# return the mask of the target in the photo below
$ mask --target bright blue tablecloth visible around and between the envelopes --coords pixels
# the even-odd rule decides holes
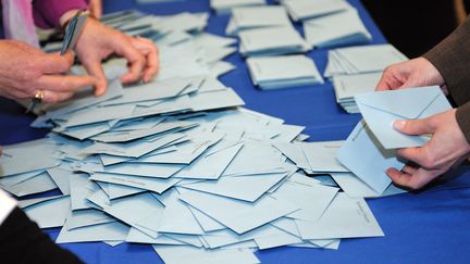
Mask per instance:
[[[359,0],[355,5],[373,35],[373,43],[385,43],[370,15]],[[104,0],[104,11],[138,9],[153,14],[207,12],[209,0],[185,0],[137,5],[132,0]],[[211,12],[207,32],[224,35],[227,15]],[[326,50],[314,50],[312,56],[323,73]],[[311,141],[345,139],[360,120],[346,114],[335,102],[332,85],[299,87],[285,90],[261,91],[248,76],[243,58],[236,53],[227,61],[237,68],[222,77],[245,100],[246,106],[282,117],[287,124],[306,126]],[[9,100],[0,100],[0,143],[21,142],[46,135],[47,130],[29,128],[34,116]],[[448,173],[421,192],[369,200],[372,212],[385,237],[345,239],[339,250],[277,248],[257,252],[262,263],[469,263],[470,261],[470,167]],[[55,238],[59,228],[46,230]],[[101,242],[62,244],[86,263],[162,263],[148,244],[123,243],[111,248]],[[190,261],[188,260],[188,263]]]

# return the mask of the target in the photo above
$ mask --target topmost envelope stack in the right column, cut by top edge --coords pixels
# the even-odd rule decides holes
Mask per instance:
[[[344,0],[282,0],[294,21],[305,21],[354,9]]]

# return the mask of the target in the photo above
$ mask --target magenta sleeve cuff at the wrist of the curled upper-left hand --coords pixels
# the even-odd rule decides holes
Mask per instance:
[[[67,11],[87,9],[87,3],[84,0],[42,0],[33,2],[36,22],[40,22],[41,26],[61,28],[60,17]],[[40,16],[39,16],[40,15]]]

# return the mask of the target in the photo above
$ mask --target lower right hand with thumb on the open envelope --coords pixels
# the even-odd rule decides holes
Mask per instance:
[[[406,165],[401,171],[388,168],[386,174],[396,185],[420,189],[470,155],[470,144],[456,121],[456,111],[453,109],[428,118],[394,123],[396,130],[407,135],[432,135],[422,147],[397,150],[398,156],[418,166]]]

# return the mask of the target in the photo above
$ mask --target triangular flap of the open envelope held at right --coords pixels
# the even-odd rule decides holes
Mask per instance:
[[[417,118],[440,95],[438,86],[403,90],[373,91],[356,96],[358,104],[364,104],[407,120]]]

